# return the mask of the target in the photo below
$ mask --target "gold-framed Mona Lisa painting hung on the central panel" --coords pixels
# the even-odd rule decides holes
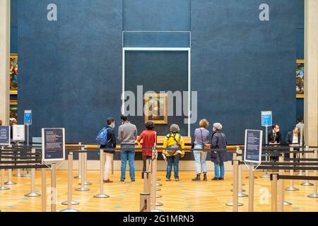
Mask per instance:
[[[167,94],[146,93],[144,100],[145,124],[153,121],[157,125],[167,124]]]

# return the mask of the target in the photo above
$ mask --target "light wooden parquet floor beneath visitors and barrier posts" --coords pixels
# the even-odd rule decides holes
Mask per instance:
[[[13,172],[14,174],[14,172]],[[36,172],[36,191],[41,191],[40,171]],[[77,172],[74,171],[76,175]],[[143,180],[141,172],[136,172],[136,183],[131,184],[130,179],[126,179],[124,184],[119,184],[120,172],[115,171],[114,183],[104,184],[105,194],[110,198],[93,198],[98,194],[98,171],[88,171],[88,181],[93,184],[88,186],[90,191],[73,191],[73,200],[80,204],[73,206],[80,211],[87,212],[125,212],[139,210],[139,194],[143,189]],[[189,211],[209,211],[209,212],[230,212],[232,208],[225,206],[225,203],[232,201],[232,172],[226,172],[225,181],[212,182],[213,172],[208,174],[208,182],[192,182],[194,172],[179,172],[180,181],[165,182],[165,172],[158,172],[161,179],[161,191],[158,194],[162,198],[157,201],[163,203],[158,209],[165,212],[189,212]],[[243,186],[248,194],[248,179],[245,179],[248,172],[244,172]],[[256,172],[259,177],[263,172]],[[129,172],[126,172],[126,178],[129,178]],[[28,198],[25,194],[30,192],[30,178],[13,177],[16,185],[9,186],[11,190],[0,191],[0,210],[3,212],[30,212],[41,211],[41,197]],[[78,187],[78,179],[73,180],[73,188]],[[302,181],[295,181],[295,186],[300,191],[285,191],[285,201],[293,203],[293,206],[285,206],[285,212],[305,212],[318,211],[318,198],[308,198],[312,194],[312,186],[300,186]],[[50,210],[50,172],[47,171],[47,211]],[[289,181],[285,182],[285,187],[289,186]],[[271,211],[271,182],[269,179],[255,179],[254,187],[254,210],[258,212]],[[62,210],[66,206],[61,205],[62,201],[67,199],[67,172],[64,170],[57,171],[57,210]],[[248,210],[248,198],[239,198],[244,206],[240,211]]]

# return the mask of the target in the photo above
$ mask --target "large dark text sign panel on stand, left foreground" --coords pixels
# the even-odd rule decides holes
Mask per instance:
[[[42,161],[65,160],[65,129],[42,129]]]

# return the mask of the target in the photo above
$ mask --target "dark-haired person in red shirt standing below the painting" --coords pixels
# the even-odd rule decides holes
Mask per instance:
[[[138,145],[142,148],[153,148],[153,146],[157,143],[157,133],[153,130],[155,128],[155,124],[153,121],[148,121],[146,123],[146,130],[144,130],[139,138],[137,139]],[[141,145],[140,142],[143,141]],[[143,150],[143,172],[146,172],[146,162],[148,159],[151,159],[153,155],[153,150],[145,149]]]

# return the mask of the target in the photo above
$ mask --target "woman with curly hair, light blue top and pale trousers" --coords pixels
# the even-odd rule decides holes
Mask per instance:
[[[210,132],[208,131],[208,120],[202,119],[199,122],[199,128],[194,131],[194,143],[193,147],[193,155],[194,160],[196,162],[196,177],[192,179],[194,182],[199,182],[201,176],[201,168],[204,175],[204,181],[207,180],[206,177],[206,155],[208,154],[208,150],[205,150],[205,147],[210,148],[208,145],[208,141],[210,139]]]

